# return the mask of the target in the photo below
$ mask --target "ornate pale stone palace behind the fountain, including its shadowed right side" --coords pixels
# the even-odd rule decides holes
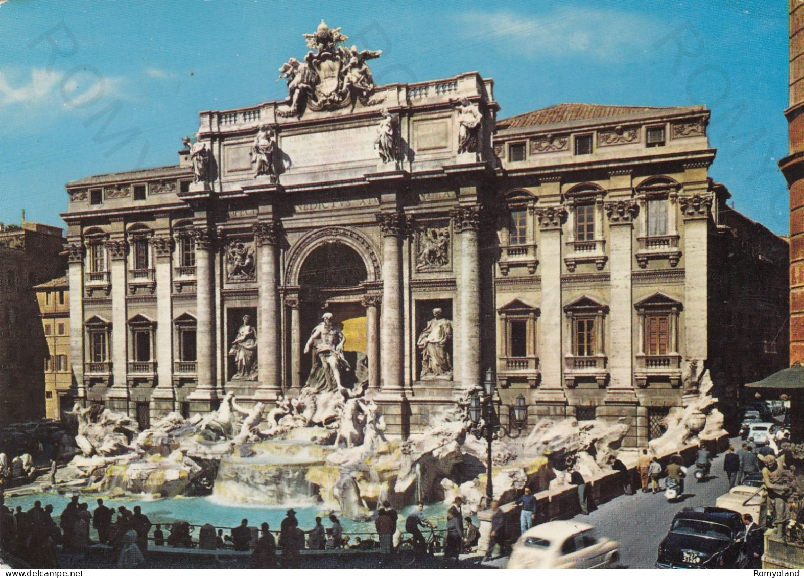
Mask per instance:
[[[68,183],[77,399],[142,426],[229,391],[270,409],[307,383],[325,313],[340,379],[393,435],[492,368],[531,424],[621,418],[642,445],[697,387],[691,366],[727,402],[749,346],[786,367],[767,346],[783,294],[728,318],[735,276],[785,275],[787,248],[708,178],[707,109],[498,120],[492,80],[375,86],[379,52],[339,34],[322,23],[281,69],[287,100],[200,113],[178,165]]]

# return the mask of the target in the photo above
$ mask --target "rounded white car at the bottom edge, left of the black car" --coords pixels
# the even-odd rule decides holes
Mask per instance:
[[[609,568],[619,559],[619,547],[598,538],[589,524],[556,520],[519,536],[506,568]]]

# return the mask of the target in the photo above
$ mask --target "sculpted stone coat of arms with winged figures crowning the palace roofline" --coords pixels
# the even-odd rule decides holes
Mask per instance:
[[[288,83],[287,106],[277,111],[283,117],[301,117],[305,110],[335,110],[346,106],[376,105],[372,100],[374,77],[366,64],[382,54],[379,50],[359,51],[343,46],[349,37],[340,27],[330,28],[322,20],[313,34],[304,35],[307,52],[303,62],[291,58],[279,69]]]

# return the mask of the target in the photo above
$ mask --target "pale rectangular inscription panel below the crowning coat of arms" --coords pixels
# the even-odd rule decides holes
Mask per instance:
[[[352,129],[332,130],[328,133],[293,134],[283,136],[281,151],[285,168],[334,165],[339,162],[371,161],[379,159],[374,149],[377,127],[358,126]]]

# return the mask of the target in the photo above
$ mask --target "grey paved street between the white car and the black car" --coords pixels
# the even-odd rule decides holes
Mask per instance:
[[[695,478],[692,478],[695,468],[690,468],[684,488],[687,497],[681,502],[667,502],[663,492],[655,495],[638,492],[633,496],[615,498],[601,504],[588,516],[581,514],[573,519],[591,523],[599,535],[620,542],[622,566],[653,568],[658,545],[670,528],[673,516],[686,506],[714,506],[715,500],[728,490],[728,479],[723,472],[723,455],[712,461],[708,482],[695,482]]]

